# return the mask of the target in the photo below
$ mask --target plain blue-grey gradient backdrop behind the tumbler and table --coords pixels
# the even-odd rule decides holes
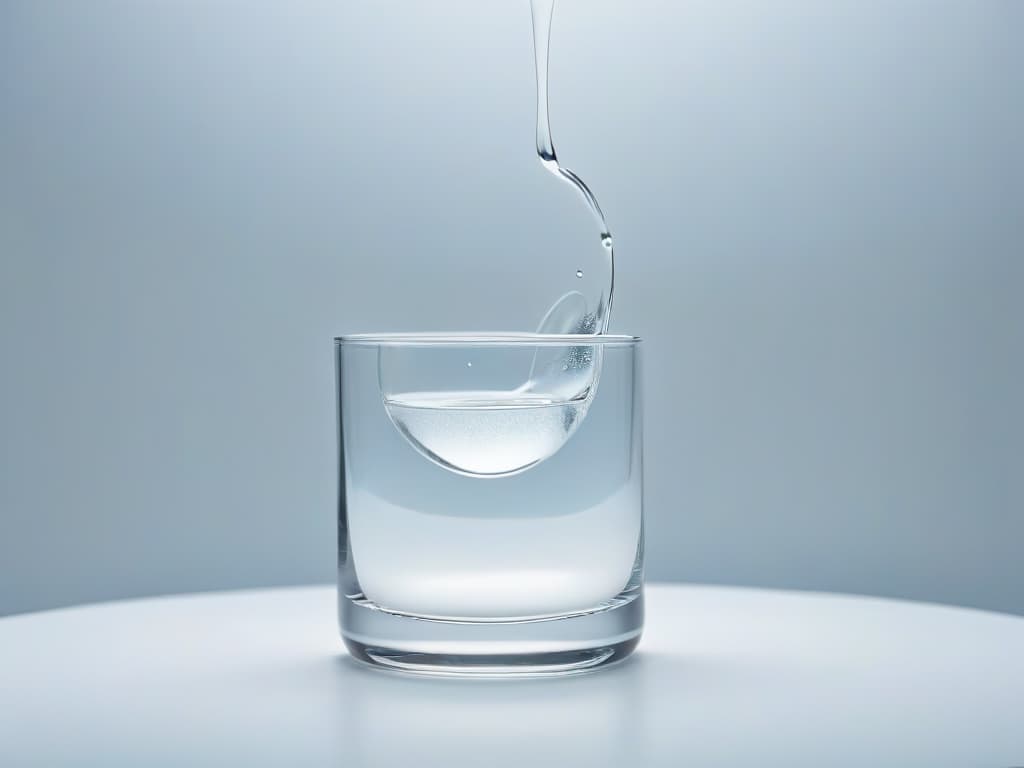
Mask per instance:
[[[648,574],[1024,612],[1024,3],[585,2]],[[574,270],[526,0],[0,0],[0,612],[328,581],[342,332]]]

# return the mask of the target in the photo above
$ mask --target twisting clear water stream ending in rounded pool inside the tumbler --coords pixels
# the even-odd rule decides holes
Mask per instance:
[[[564,293],[545,313],[542,334],[604,333],[614,287],[611,234],[597,198],[561,166],[551,136],[548,59],[554,0],[531,0],[537,74],[537,154],[544,168],[582,198],[598,224],[606,270],[590,275],[596,290]],[[573,269],[575,281],[584,279]],[[590,295],[588,295],[590,294]],[[472,365],[471,362],[468,365]],[[393,392],[382,371],[385,407],[395,427],[423,456],[455,472],[496,477],[524,471],[553,456],[587,415],[600,377],[594,347],[538,347],[523,384],[492,391]]]

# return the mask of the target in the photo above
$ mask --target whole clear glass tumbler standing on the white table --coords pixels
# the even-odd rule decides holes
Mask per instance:
[[[639,339],[335,341],[352,655],[456,675],[628,655],[643,625]]]

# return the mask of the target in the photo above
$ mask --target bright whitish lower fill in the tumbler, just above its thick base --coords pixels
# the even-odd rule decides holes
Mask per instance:
[[[629,487],[559,514],[430,514],[368,490],[351,506],[359,597],[384,610],[522,621],[599,610],[639,587],[639,504]]]

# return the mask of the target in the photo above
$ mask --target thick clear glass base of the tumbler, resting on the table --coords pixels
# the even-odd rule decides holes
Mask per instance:
[[[339,596],[349,653],[378,669],[458,677],[538,677],[602,669],[640,641],[643,595],[565,616],[513,622],[423,618]]]

